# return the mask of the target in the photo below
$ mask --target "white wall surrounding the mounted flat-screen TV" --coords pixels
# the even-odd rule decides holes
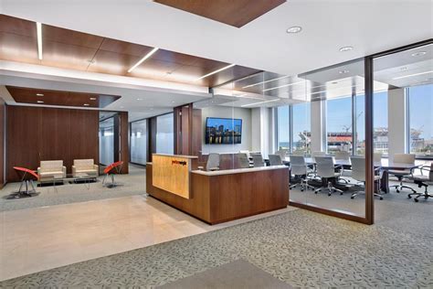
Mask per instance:
[[[242,120],[241,144],[205,144],[206,118],[238,118]],[[251,150],[251,109],[232,108],[228,106],[211,106],[202,109],[202,154],[209,153],[238,153],[239,150]],[[256,129],[256,128],[254,128]],[[259,129],[259,128],[258,128]]]

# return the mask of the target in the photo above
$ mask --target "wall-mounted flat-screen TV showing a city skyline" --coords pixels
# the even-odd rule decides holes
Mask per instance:
[[[241,119],[206,118],[206,144],[240,144],[241,141]]]

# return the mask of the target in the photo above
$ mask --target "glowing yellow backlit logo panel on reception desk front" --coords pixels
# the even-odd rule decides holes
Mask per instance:
[[[189,172],[191,160],[179,155],[153,155],[153,186],[174,195],[190,198]]]

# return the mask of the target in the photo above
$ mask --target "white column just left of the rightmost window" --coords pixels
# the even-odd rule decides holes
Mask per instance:
[[[375,108],[380,109],[380,108]],[[388,155],[407,152],[407,103],[405,89],[388,91]]]

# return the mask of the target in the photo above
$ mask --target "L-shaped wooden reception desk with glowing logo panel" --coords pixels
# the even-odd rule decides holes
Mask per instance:
[[[170,160],[168,155],[164,155]],[[289,168],[287,166],[264,166],[254,168],[227,169],[206,172],[195,169],[195,158],[171,155],[189,160],[189,194],[185,191],[185,166],[168,162],[170,168],[160,159],[146,166],[147,193],[153,198],[180,209],[195,218],[210,224],[240,219],[289,205]],[[163,162],[166,162],[164,160]],[[158,167],[164,166],[165,168]],[[155,173],[158,172],[158,173]],[[182,177],[169,177],[174,174]],[[166,181],[155,179],[163,177]],[[178,182],[178,183],[177,183]]]

